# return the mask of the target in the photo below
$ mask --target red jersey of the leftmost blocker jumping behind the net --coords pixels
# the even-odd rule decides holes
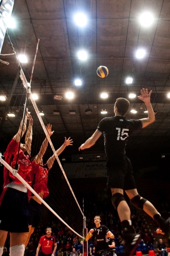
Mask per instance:
[[[8,144],[6,151],[4,152],[5,161],[14,169],[17,161],[19,142],[17,143],[14,138]],[[24,152],[19,149],[18,154],[18,174],[27,182],[31,183],[31,161],[29,155],[25,155]],[[16,177],[4,166],[4,186],[14,181],[17,184],[21,184]]]

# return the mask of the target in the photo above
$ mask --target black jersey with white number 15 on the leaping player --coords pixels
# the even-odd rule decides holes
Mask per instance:
[[[105,154],[108,159],[125,154],[128,136],[142,128],[141,120],[126,120],[125,117],[105,117],[98,124],[98,131],[104,133]]]

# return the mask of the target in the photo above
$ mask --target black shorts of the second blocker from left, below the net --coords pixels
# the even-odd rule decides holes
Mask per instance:
[[[37,203],[34,199],[29,201],[29,225],[36,227],[41,219],[42,207],[40,203]]]

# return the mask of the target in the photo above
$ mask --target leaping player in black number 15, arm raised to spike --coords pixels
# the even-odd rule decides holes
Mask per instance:
[[[148,93],[148,89],[142,89],[141,96],[138,96],[138,99],[145,102],[148,117],[139,120],[126,120],[125,115],[130,107],[130,102],[125,98],[118,98],[114,106],[115,117],[105,117],[102,119],[94,134],[79,147],[79,151],[92,147],[101,134],[104,133],[105,153],[108,158],[106,165],[109,176],[108,188],[111,188],[112,204],[118,211],[123,227],[123,254],[125,256],[133,255],[141,237],[139,234],[133,233],[130,208],[124,199],[123,190],[127,193],[131,203],[150,215],[161,227],[161,230],[167,234],[170,231],[170,219],[165,221],[152,203],[138,194],[132,175],[131,162],[125,154],[125,147],[129,135],[133,131],[145,128],[155,121],[155,115],[150,102],[151,94],[152,90]]]

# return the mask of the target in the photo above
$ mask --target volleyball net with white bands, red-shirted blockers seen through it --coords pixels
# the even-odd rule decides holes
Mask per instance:
[[[83,212],[58,158],[65,149],[65,137],[63,144],[54,148],[52,141],[57,136],[48,126],[51,118],[48,120],[40,115],[40,106],[36,105],[20,65],[14,83],[8,89],[11,90],[8,90],[6,101],[0,106],[0,160],[4,171],[9,170],[8,180],[24,184],[30,191],[29,196],[35,195],[61,222],[83,238]],[[23,156],[25,147],[31,155],[26,160]],[[28,158],[34,156],[31,164]],[[37,166],[43,165],[41,158],[47,165],[37,171]]]

